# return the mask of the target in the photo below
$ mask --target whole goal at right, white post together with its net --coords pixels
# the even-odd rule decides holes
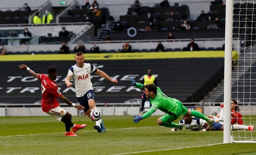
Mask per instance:
[[[256,127],[255,23],[256,0],[226,0],[224,143],[256,143],[256,131],[247,129]],[[245,129],[230,129],[231,99],[238,102]]]

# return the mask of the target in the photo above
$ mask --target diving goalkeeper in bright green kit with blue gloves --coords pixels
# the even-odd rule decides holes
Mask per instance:
[[[158,118],[157,124],[160,126],[165,126],[168,128],[178,128],[182,130],[183,124],[175,124],[172,123],[174,120],[180,117],[180,115],[190,115],[195,116],[197,118],[202,118],[206,120],[208,126],[211,127],[213,123],[212,118],[207,118],[200,112],[196,110],[188,110],[182,103],[175,99],[166,96],[159,87],[155,84],[140,84],[136,83],[133,78],[131,78],[132,86],[139,88],[141,90],[145,90],[146,98],[149,98],[152,106],[149,108],[148,112],[144,113],[142,116],[134,115],[133,122],[138,123],[140,120],[145,119],[151,116],[157,109],[165,112],[166,115]]]

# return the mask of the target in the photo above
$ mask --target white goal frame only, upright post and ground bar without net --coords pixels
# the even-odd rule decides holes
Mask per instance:
[[[244,1],[246,2],[246,0]],[[254,2],[254,0],[252,1]],[[256,1],[255,1],[256,3]],[[225,58],[224,58],[224,137],[223,143],[256,143],[256,141],[234,141],[230,131],[230,102],[232,92],[232,41],[234,0],[226,0]],[[256,4],[255,4],[256,5]],[[253,131],[254,132],[254,131]]]

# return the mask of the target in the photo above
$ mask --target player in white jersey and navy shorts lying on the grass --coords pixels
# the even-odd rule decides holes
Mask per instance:
[[[196,118],[188,115],[184,115],[183,119],[180,120],[179,124],[184,124],[186,129],[191,129],[193,131],[210,131],[207,122],[201,118]],[[234,124],[230,126],[231,130],[239,130],[244,129],[240,128],[241,125]],[[212,124],[212,131],[223,131],[224,126],[223,124],[213,122]],[[170,131],[177,131],[178,128],[172,128]]]

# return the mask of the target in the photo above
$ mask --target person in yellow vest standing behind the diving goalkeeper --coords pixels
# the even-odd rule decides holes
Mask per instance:
[[[154,75],[152,75],[151,69],[148,69],[148,74],[144,75],[144,77],[142,79],[142,83],[143,83],[143,85],[152,83],[152,84],[156,84],[156,86],[157,86],[156,77]],[[147,99],[146,94],[145,94],[145,90],[143,90],[143,93],[141,95],[141,99],[142,99],[142,102],[141,102],[141,108],[140,108],[139,116],[144,114],[144,104],[145,104],[145,101]],[[149,103],[150,103],[150,101],[149,101]],[[151,107],[151,103],[150,103],[150,107]]]

